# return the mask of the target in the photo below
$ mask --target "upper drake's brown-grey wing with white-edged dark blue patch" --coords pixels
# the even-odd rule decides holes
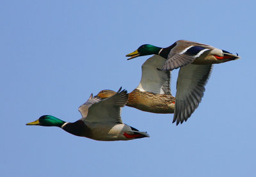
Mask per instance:
[[[168,54],[163,70],[174,70],[192,63],[196,58],[207,56],[214,47],[202,43],[179,40]]]

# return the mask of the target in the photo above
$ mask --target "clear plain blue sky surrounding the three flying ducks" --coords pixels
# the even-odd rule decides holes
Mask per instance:
[[[1,1],[1,176],[254,176],[255,1]],[[214,65],[186,123],[124,107],[124,123],[150,138],[100,142],[57,127],[26,126],[44,114],[73,122],[90,94],[131,92],[150,43],[191,40],[238,53]],[[172,93],[178,70],[172,72]]]

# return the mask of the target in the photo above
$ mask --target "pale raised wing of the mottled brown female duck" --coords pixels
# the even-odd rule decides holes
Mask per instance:
[[[161,70],[165,62],[166,59],[158,55],[148,58],[141,66],[142,75],[137,89],[170,95],[171,72]]]

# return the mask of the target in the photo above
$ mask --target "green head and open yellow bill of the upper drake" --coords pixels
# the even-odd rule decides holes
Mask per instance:
[[[152,54],[158,54],[161,49],[161,47],[156,47],[150,44],[144,44],[141,45],[137,50],[131,52],[130,54],[127,54],[126,56],[131,56],[131,58],[128,59],[136,58],[138,56],[148,56]]]

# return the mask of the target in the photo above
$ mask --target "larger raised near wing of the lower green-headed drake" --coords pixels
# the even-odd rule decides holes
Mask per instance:
[[[85,120],[89,122],[122,123],[121,107],[124,107],[127,103],[128,94],[125,89],[120,91],[121,89],[115,95],[91,105]]]

